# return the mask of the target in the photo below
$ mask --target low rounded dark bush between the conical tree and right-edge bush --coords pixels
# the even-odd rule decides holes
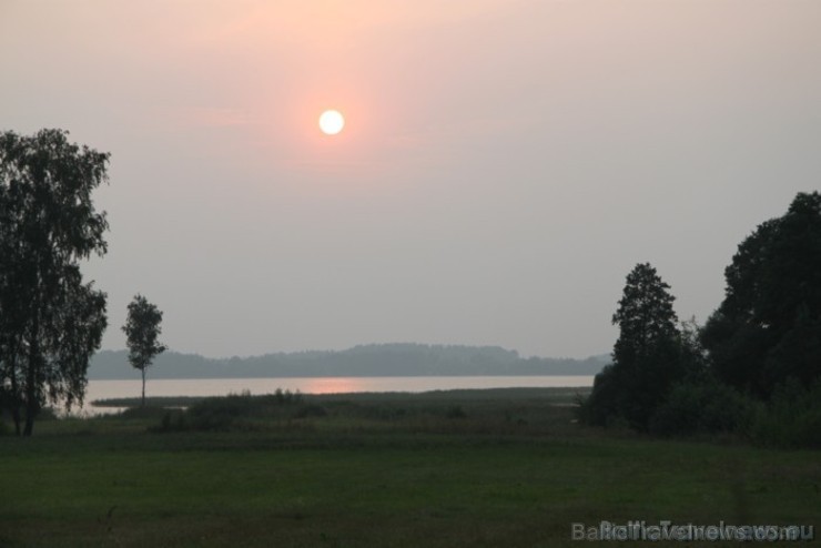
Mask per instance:
[[[661,436],[749,430],[759,404],[712,377],[673,385],[650,418],[649,430]]]

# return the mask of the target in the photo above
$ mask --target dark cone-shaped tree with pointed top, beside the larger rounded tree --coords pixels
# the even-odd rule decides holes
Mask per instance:
[[[596,376],[585,404],[589,423],[622,417],[643,430],[672,384],[685,376],[691,353],[685,352],[689,341],[677,327],[669,290],[649,263],[628,274],[612,316],[619,326],[612,364]]]

